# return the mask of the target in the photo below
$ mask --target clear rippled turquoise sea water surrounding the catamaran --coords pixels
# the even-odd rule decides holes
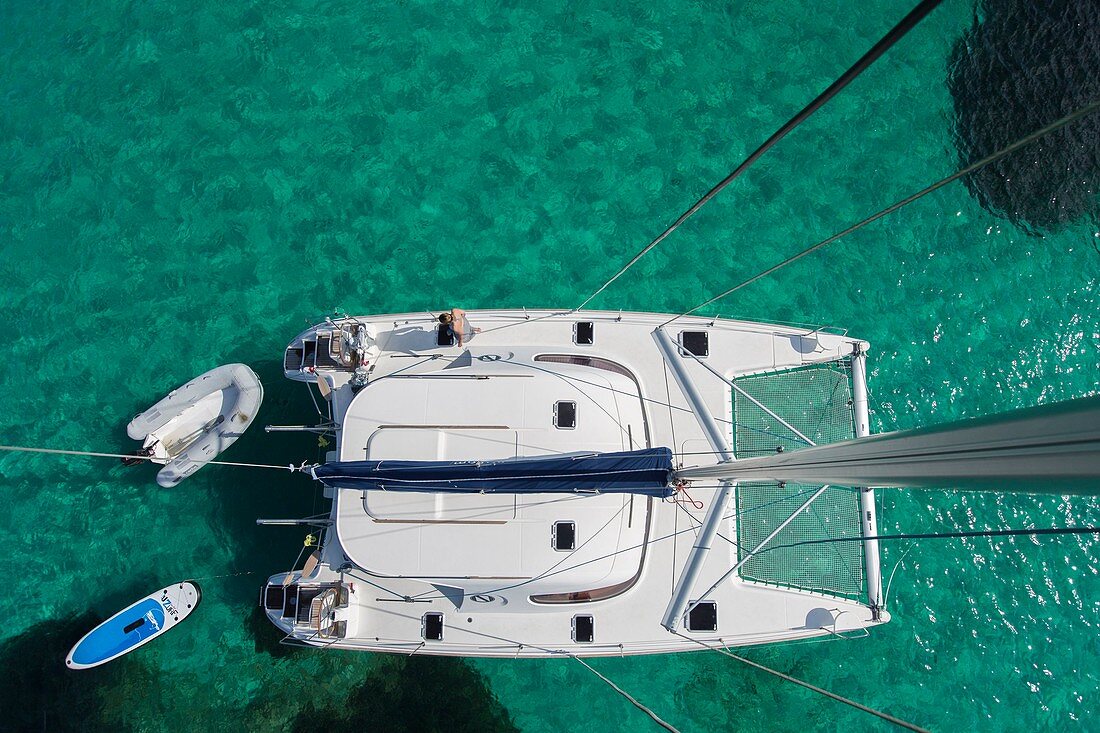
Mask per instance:
[[[0,8],[4,444],[129,450],[130,416],[216,364],[309,420],[284,344],[356,313],[580,303],[908,3],[31,3]],[[679,310],[946,175],[949,0],[593,304]],[[721,304],[872,343],[873,428],[1087,394],[1100,237],[1045,237],[955,184]],[[300,436],[228,460],[298,462]],[[278,472],[177,490],[113,461],[3,456],[0,721],[32,730],[647,730],[575,663],[294,652],[253,615],[322,511]],[[890,492],[882,525],[1085,525],[1096,500]],[[746,655],[938,730],[1096,727],[1100,545],[925,543],[869,638]],[[198,578],[186,631],[67,674],[91,623]],[[706,653],[594,665],[685,731],[881,726]],[[356,718],[358,715],[358,718]],[[510,722],[509,722],[510,721]]]

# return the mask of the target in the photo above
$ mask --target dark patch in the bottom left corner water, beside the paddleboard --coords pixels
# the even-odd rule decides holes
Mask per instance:
[[[102,621],[90,612],[37,623],[0,644],[0,729],[4,731],[120,730],[131,696],[155,688],[133,657],[102,667],[65,668],[65,656]]]

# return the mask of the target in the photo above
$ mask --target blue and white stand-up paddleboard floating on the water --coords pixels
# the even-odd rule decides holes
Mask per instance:
[[[88,669],[133,652],[189,616],[201,598],[199,587],[191,581],[167,586],[85,634],[65,664],[69,669]]]

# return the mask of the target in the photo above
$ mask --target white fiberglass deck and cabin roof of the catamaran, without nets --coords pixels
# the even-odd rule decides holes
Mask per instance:
[[[376,348],[370,379],[358,391],[346,366],[320,359],[304,363],[308,357],[295,363],[310,352],[310,341],[324,343],[333,326],[311,329],[290,344],[287,376],[323,379],[331,387],[340,460],[495,460],[667,446],[678,463],[715,462],[654,343],[653,330],[667,317],[473,311],[469,319],[483,332],[458,348],[437,344],[437,324],[427,316],[359,318],[374,330]],[[576,343],[579,321],[593,324],[591,344]],[[667,331],[676,339],[683,331],[705,332],[702,360],[727,379],[842,359],[859,343],[726,320],[681,319]],[[730,387],[684,359],[733,444]],[[561,403],[573,406],[572,425],[556,424]],[[469,656],[689,650],[702,648],[698,642],[792,639],[889,617],[882,613],[873,621],[859,599],[763,586],[734,573],[706,595],[717,605],[717,630],[669,633],[660,620],[715,493],[713,485],[689,492],[702,508],[620,494],[338,489],[322,561],[311,577],[296,573],[292,580],[301,588],[349,587],[346,608],[337,612],[349,621],[346,634],[322,641],[316,627],[295,624],[278,609],[268,608],[268,614],[309,643]],[[722,538],[696,583],[700,593],[738,560],[736,506],[729,505]],[[574,549],[553,546],[556,523],[573,525]],[[426,631],[426,613],[443,614],[442,638]],[[574,641],[576,615],[592,616],[592,642]]]

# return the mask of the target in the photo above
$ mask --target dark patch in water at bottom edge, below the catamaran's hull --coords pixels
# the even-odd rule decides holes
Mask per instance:
[[[485,678],[461,659],[385,656],[339,707],[307,707],[293,731],[518,731]]]

